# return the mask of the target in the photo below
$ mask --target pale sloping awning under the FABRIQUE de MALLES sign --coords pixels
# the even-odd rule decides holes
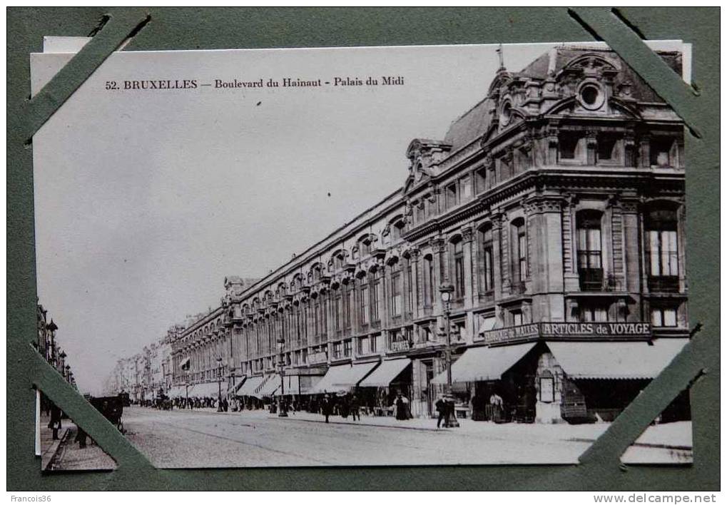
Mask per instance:
[[[536,342],[507,345],[503,347],[472,347],[452,365],[452,382],[497,381],[502,374],[518,363]],[[432,384],[446,384],[447,373],[443,371]]]

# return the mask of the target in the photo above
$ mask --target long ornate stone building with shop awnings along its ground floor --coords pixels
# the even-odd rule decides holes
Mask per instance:
[[[688,339],[683,122],[606,49],[501,65],[483,94],[411,141],[401,190],[175,326],[169,392],[401,392],[431,416],[449,355],[475,418],[494,397],[518,421],[617,415]]]

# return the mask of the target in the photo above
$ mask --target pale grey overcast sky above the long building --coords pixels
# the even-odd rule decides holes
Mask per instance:
[[[505,46],[521,70],[548,45]],[[481,100],[495,46],[113,54],[33,140],[41,304],[82,392],[401,187]],[[68,56],[33,62],[36,87]],[[107,91],[106,81],[402,76],[403,86]]]

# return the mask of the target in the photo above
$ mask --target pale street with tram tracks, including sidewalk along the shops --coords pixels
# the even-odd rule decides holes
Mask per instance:
[[[127,408],[126,435],[158,467],[422,464],[573,464],[607,424],[491,424],[462,420],[436,429],[433,419],[360,423],[295,413],[217,413]],[[667,427],[667,425],[663,425]],[[688,427],[688,428],[687,428]],[[634,461],[691,461],[691,426],[662,427],[635,448]],[[650,429],[651,431],[651,429]],[[672,440],[664,444],[663,437]],[[675,432],[677,436],[675,436]],[[668,445],[668,447],[667,447]]]

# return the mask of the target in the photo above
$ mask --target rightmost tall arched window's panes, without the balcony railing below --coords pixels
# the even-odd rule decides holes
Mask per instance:
[[[649,274],[652,277],[679,275],[677,215],[670,209],[654,209],[646,216]]]

